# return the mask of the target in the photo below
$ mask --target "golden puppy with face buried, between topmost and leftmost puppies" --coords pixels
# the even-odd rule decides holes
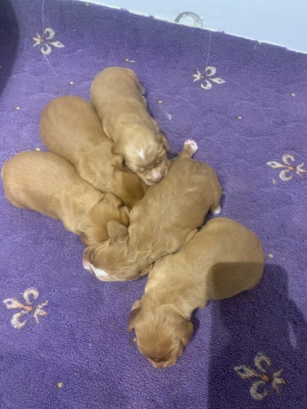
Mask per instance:
[[[94,106],[82,98],[55,98],[43,109],[39,132],[47,148],[70,161],[79,175],[102,192],[114,193],[132,208],[147,186],[112,165],[112,146]]]

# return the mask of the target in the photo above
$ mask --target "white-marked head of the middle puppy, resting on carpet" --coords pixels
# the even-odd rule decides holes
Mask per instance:
[[[127,281],[139,277],[136,259],[129,252],[127,227],[111,220],[106,225],[109,239],[85,248],[82,264],[101,281]]]

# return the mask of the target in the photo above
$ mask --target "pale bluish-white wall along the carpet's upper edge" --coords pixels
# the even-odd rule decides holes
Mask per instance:
[[[199,14],[204,28],[307,53],[307,0],[81,0],[174,21]]]

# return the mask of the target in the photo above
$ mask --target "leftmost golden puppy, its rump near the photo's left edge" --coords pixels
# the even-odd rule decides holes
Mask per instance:
[[[129,223],[128,209],[114,194],[95,189],[54,153],[17,153],[5,162],[1,175],[12,205],[61,220],[85,245],[108,239],[109,220]]]

